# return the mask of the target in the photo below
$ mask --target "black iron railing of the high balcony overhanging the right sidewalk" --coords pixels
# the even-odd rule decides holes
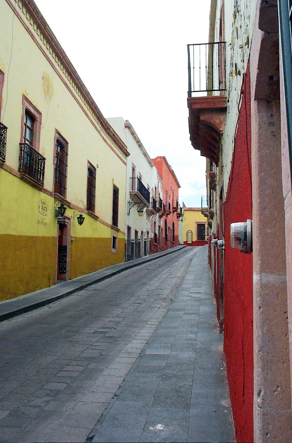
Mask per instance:
[[[188,44],[188,96],[226,90],[226,42]]]

